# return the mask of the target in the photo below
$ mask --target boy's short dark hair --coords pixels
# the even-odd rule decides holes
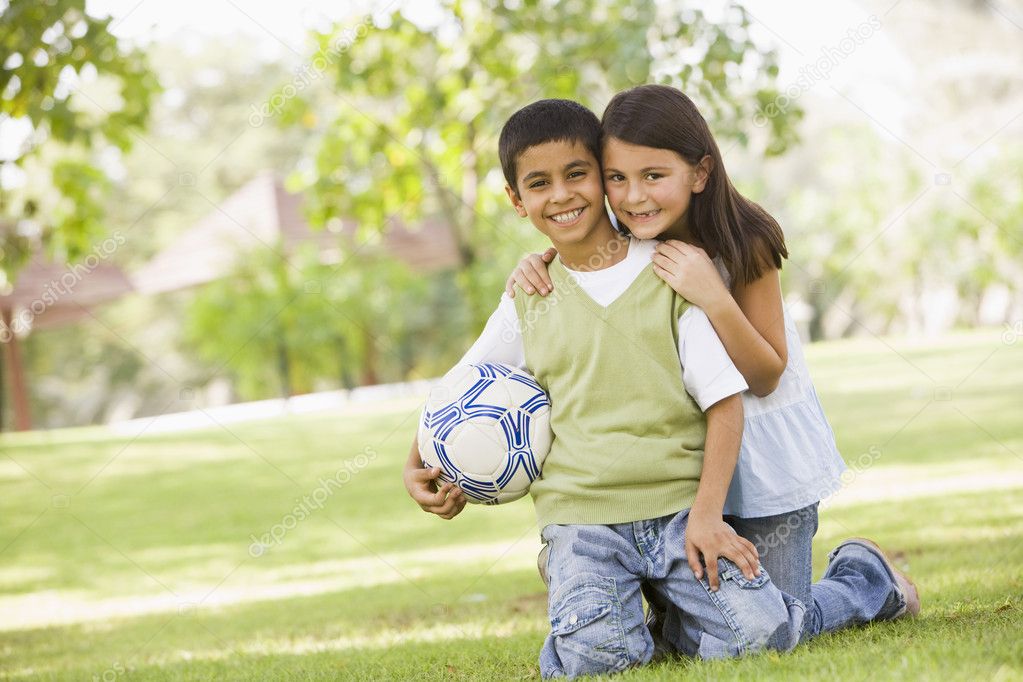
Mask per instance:
[[[601,120],[571,99],[541,99],[511,115],[501,128],[497,154],[508,187],[516,186],[519,154],[547,142],[580,142],[601,163]]]

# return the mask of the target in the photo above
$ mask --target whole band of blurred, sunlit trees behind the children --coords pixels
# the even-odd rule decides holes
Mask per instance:
[[[599,112],[652,81],[694,97],[733,180],[779,218],[809,337],[1023,317],[1023,148],[999,133],[1023,107],[1005,67],[1023,55],[1004,17],[908,1],[911,21],[901,5],[883,15],[890,49],[920,65],[903,93],[919,110],[898,129],[827,79],[759,117],[792,83],[781,36],[757,38],[739,6],[633,4],[398,3],[337,18],[299,54],[193,35],[130,44],[81,2],[4,5],[5,290],[29,257],[73,266],[115,232],[112,261],[132,275],[210,216],[253,231],[223,207],[268,169],[314,229],[304,245],[250,239],[208,281],[19,330],[37,424],[437,375],[543,246],[504,206],[501,123],[541,97]],[[430,239],[450,252],[443,267],[386,238],[428,224],[448,230]]]

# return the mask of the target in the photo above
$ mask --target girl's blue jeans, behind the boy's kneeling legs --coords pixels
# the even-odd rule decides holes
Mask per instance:
[[[905,606],[884,561],[861,545],[843,545],[833,551],[820,582],[811,585],[816,503],[775,516],[727,516],[725,520],[756,545],[761,567],[779,589],[806,605],[803,641],[851,625],[894,618]]]

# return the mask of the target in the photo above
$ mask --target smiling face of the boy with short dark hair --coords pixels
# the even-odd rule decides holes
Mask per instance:
[[[516,160],[516,187],[504,189],[519,215],[555,246],[584,240],[602,223],[610,226],[599,164],[580,142],[529,147]]]

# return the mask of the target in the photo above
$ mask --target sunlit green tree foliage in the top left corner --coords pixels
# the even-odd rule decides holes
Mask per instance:
[[[23,137],[0,185],[0,274],[38,249],[74,261],[103,225],[100,151],[126,150],[159,89],[144,54],[110,35],[85,0],[12,0],[0,10],[0,127]],[[88,91],[87,91],[88,90]]]

